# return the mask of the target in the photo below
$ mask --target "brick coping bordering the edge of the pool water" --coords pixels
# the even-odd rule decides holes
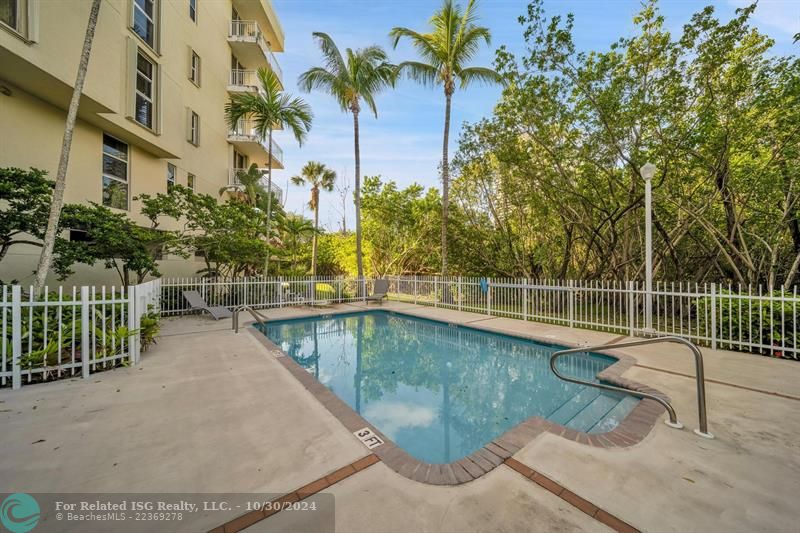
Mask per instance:
[[[392,310],[391,312],[419,318],[410,313],[406,314],[396,310]],[[333,312],[331,314],[340,313]],[[318,315],[309,315],[309,317],[312,316]],[[474,327],[471,325],[465,325],[464,327],[501,333],[495,329],[490,330],[488,328]],[[556,424],[542,417],[532,416],[495,438],[492,442],[458,461],[448,464],[431,464],[415,459],[397,446],[389,437],[356,413],[347,403],[331,392],[330,389],[320,383],[314,376],[309,374],[302,366],[297,364],[294,359],[270,341],[266,335],[252,327],[247,328],[247,331],[350,432],[356,432],[367,427],[376,435],[380,436],[384,444],[371,451],[378,456],[384,464],[403,477],[431,485],[459,485],[477,479],[503,464],[517,451],[521,450],[543,433],[552,433],[567,440],[599,448],[626,448],[633,446],[641,442],[650,433],[656,421],[664,412],[664,408],[658,402],[651,399],[642,399],[636,407],[628,413],[628,416],[613,430],[606,433],[592,434],[575,431],[574,429]],[[534,340],[547,345],[554,344],[553,339],[543,339],[514,332],[502,332],[501,334],[526,340]],[[570,343],[559,344],[567,347],[579,347],[578,345],[571,345]],[[604,351],[603,353],[614,357],[617,359],[617,362],[598,373],[598,379],[629,390],[658,395],[668,401],[668,397],[660,391],[622,377],[622,374],[626,370],[636,364],[636,359],[634,357],[613,350]]]

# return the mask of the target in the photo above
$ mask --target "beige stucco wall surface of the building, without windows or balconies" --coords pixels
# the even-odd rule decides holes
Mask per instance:
[[[0,167],[36,167],[54,178],[90,2],[27,1],[35,8],[36,31],[29,35],[34,42],[0,30],[0,85],[11,93],[0,94],[0,128],[4,132]],[[129,28],[133,1],[103,0],[100,7],[65,201],[102,203],[106,132],[129,145],[129,209],[125,213],[144,225],[147,221],[139,213],[140,203],[133,197],[166,192],[168,163],[178,169],[178,184],[186,185],[187,174],[194,174],[197,192],[217,196],[228,184],[234,147],[227,141],[224,106],[229,97],[232,6],[259,21],[262,31],[272,37],[273,49],[282,50],[283,33],[268,0],[197,0],[197,22],[189,16],[189,0],[160,0],[158,44],[152,51]],[[136,46],[158,64],[157,131],[128,116],[135,80],[131,51]],[[201,58],[199,86],[189,79],[191,50]],[[255,69],[262,64],[245,66]],[[187,140],[188,109],[200,116],[198,146]],[[263,165],[266,158],[264,153],[263,160],[254,162]],[[0,263],[0,279],[31,279],[38,251],[36,247],[12,248]],[[169,260],[164,262],[163,273],[189,275],[202,266],[194,260]],[[83,274],[91,277],[95,270]],[[109,274],[113,280],[115,274]]]

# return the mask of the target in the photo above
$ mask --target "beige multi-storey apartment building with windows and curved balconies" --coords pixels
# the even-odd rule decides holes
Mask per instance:
[[[0,166],[55,176],[89,8],[89,0],[0,0]],[[266,167],[267,143],[247,121],[229,128],[224,106],[231,93],[257,90],[259,67],[280,77],[274,54],[283,45],[270,0],[103,0],[65,201],[97,202],[144,224],[139,194],[179,183],[218,195],[238,169]],[[272,167],[282,161],[273,142]],[[35,268],[39,249],[19,248],[0,279]],[[162,271],[194,273],[188,263],[165,258]]]

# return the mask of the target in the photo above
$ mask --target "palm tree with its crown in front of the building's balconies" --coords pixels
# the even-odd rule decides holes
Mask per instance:
[[[267,236],[270,234],[272,220],[272,132],[275,128],[288,128],[299,145],[311,129],[311,106],[302,98],[292,97],[281,90],[281,82],[269,69],[258,69],[259,89],[255,93],[238,93],[231,96],[225,105],[225,116],[231,128],[238,122],[249,118],[253,120],[256,133],[261,141],[269,142],[267,160]],[[264,261],[264,275],[269,275],[269,253]]]

